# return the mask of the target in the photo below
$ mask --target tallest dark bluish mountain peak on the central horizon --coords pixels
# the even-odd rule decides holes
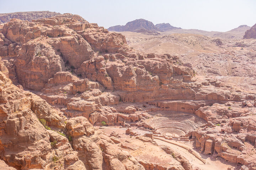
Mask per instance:
[[[160,31],[155,25],[145,19],[136,19],[134,21],[128,22],[125,26],[113,26],[108,28],[109,31],[130,31],[130,32],[158,32]]]

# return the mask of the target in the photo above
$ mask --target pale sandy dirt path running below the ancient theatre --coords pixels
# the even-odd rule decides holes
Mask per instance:
[[[164,138],[163,138],[164,139]],[[174,149],[176,152],[180,153],[183,157],[187,158],[188,161],[191,163],[191,165],[193,167],[198,167],[201,168],[202,170],[216,170],[216,167],[218,167],[218,169],[221,170],[227,170],[228,167],[233,167],[233,164],[228,163],[224,164],[222,163],[219,159],[215,160],[215,158],[212,157],[204,157],[206,164],[203,164],[203,162],[201,160],[199,160],[198,158],[196,158],[193,154],[191,154],[190,152],[188,152],[186,149],[179,147],[177,145],[173,145],[171,143],[165,142],[165,141],[161,141],[158,139],[154,139],[154,141],[158,144],[158,145],[166,145],[166,146],[170,146],[172,149]],[[172,142],[177,142],[177,141],[172,141]],[[191,148],[191,146],[186,145],[184,143],[180,143],[177,142],[179,145],[181,146],[185,146],[187,148]]]

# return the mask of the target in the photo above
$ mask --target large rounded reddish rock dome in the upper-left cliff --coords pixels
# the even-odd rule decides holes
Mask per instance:
[[[14,64],[21,85],[34,90],[41,90],[48,79],[64,67],[62,58],[55,54],[51,46],[33,42],[22,45]]]

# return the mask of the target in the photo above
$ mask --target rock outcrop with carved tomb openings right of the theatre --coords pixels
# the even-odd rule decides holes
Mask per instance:
[[[214,104],[211,107],[199,108],[196,114],[213,126],[190,132],[188,136],[195,138],[200,152],[216,154],[229,162],[253,169],[254,156],[248,157],[247,154],[255,154],[252,152],[256,146],[255,108],[249,109],[242,103],[226,103],[226,106]]]

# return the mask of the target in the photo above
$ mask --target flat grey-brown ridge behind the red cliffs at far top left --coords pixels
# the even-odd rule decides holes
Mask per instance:
[[[12,18],[32,21],[32,19],[49,18],[56,15],[60,15],[60,13],[50,11],[0,13],[0,24],[9,22]]]

